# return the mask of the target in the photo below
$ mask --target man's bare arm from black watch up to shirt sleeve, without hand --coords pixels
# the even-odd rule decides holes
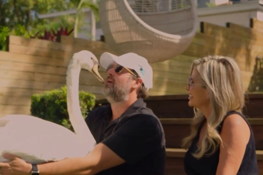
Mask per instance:
[[[125,161],[103,143],[85,157],[66,158],[57,162],[38,164],[40,175],[94,175]]]

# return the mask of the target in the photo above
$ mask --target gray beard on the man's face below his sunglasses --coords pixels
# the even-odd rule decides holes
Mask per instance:
[[[121,101],[129,100],[130,93],[130,82],[131,78],[127,83],[113,83],[113,87],[105,85],[104,95],[106,96],[109,103],[116,103]]]

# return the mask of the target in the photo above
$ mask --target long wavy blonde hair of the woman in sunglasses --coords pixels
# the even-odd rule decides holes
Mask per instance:
[[[216,128],[227,112],[232,110],[242,112],[245,105],[245,94],[240,69],[233,58],[219,55],[203,57],[193,61],[191,74],[194,68],[199,72],[202,84],[208,89],[213,108],[206,121],[207,130],[201,141],[201,146],[193,153],[194,157],[201,158],[205,154],[213,154],[222,143]],[[194,113],[191,134],[183,140],[182,146],[185,149],[189,148],[198,128],[206,120],[205,116],[196,108],[194,108]],[[210,153],[208,153],[209,150],[211,150]]]

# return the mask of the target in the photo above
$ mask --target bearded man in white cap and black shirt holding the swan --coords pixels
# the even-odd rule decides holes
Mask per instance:
[[[12,161],[0,163],[2,175],[164,174],[164,131],[143,102],[153,84],[151,66],[134,53],[118,57],[106,52],[100,64],[107,69],[104,93],[110,105],[92,110],[85,119],[97,142],[94,149],[85,157],[37,166],[7,155]]]

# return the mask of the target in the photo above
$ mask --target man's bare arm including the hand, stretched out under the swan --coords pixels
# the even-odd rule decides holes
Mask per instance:
[[[7,157],[8,158],[8,157]],[[12,158],[12,156],[11,156]],[[85,157],[67,158],[57,162],[38,164],[41,175],[93,175],[125,161],[103,143],[99,143]],[[0,173],[4,175],[30,175],[32,166],[19,158],[0,162]]]

